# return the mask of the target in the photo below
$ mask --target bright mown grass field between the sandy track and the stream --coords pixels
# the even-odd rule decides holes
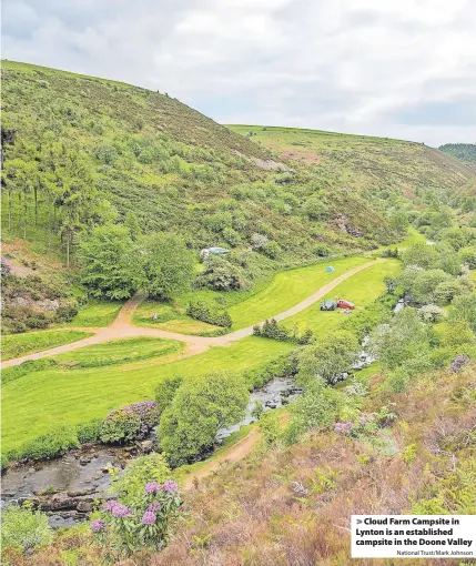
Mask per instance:
[[[382,293],[383,277],[398,269],[398,261],[387,260],[345,281],[334,290],[333,295],[348,296],[361,305],[369,303]],[[335,316],[323,316],[325,314]],[[318,305],[314,305],[287,320],[286,324],[305,324],[320,334],[324,329],[336,327],[345,319],[338,313],[321,313]],[[3,449],[14,448],[59,423],[77,424],[103,417],[108,411],[120,405],[151,398],[158,383],[165,376],[183,375],[191,378],[219,370],[240,373],[261,367],[293,347],[290,343],[251,336],[230,346],[212,347],[198,356],[160,365],[77,370],[55,367],[29,373],[3,386]]]

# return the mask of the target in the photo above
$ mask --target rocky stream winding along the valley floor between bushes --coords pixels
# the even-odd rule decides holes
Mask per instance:
[[[399,301],[394,313],[404,306],[404,301]],[[358,360],[350,372],[362,370],[375,361],[365,348],[367,342],[368,336],[365,336]],[[337,375],[335,383],[345,380],[350,372]],[[274,377],[250,394],[245,417],[231,427],[220,429],[217,442],[256,421],[252,415],[256,402],[266,412],[290,403],[301,393],[293,376]],[[107,496],[111,486],[108,469],[112,466],[123,468],[129,461],[151,452],[154,439],[155,434],[130,446],[85,445],[57,459],[12,466],[2,476],[1,505],[32,499],[47,513],[52,527],[72,526],[88,518],[94,499]]]

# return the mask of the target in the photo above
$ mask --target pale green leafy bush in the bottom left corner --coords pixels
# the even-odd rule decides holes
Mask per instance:
[[[2,548],[13,548],[22,553],[47,546],[53,539],[53,530],[48,517],[31,506],[9,505],[2,512],[1,543]]]

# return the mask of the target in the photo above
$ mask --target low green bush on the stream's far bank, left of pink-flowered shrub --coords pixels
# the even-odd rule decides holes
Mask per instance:
[[[13,459],[54,458],[68,449],[78,448],[78,446],[79,441],[75,428],[64,425],[24,443],[11,457]]]

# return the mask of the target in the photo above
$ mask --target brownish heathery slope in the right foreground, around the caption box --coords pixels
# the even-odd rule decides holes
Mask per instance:
[[[313,431],[297,445],[262,446],[223,466],[190,495],[196,519],[151,564],[351,565],[352,514],[474,514],[474,365],[415,376],[398,395],[385,393],[382,375],[369,377],[363,418],[387,406],[393,421],[354,437]]]

